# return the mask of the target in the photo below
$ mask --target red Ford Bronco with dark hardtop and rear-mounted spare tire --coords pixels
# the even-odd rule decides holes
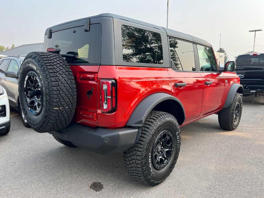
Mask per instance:
[[[44,52],[19,72],[19,99],[31,127],[66,146],[124,152],[136,180],[158,185],[178,159],[180,128],[218,114],[237,128],[243,87],[235,62],[224,70],[202,39],[113,14],[55,25]]]

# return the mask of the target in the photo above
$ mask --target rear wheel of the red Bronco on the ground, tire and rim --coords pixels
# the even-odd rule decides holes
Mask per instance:
[[[130,176],[155,186],[172,172],[180,152],[179,124],[166,112],[152,111],[140,128],[139,140],[124,152],[124,165]]]

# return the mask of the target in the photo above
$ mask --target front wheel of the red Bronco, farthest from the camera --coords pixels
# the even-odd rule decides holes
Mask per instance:
[[[238,127],[242,115],[242,103],[241,95],[236,93],[231,105],[218,112],[221,128],[232,131]]]

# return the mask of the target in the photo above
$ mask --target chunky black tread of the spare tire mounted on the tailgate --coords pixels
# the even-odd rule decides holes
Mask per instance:
[[[45,118],[41,125],[31,127],[39,133],[64,128],[71,122],[76,108],[76,85],[70,66],[62,56],[52,52],[31,52],[25,57],[27,59],[38,64],[41,72],[37,72],[41,73],[39,76],[43,78],[46,88]],[[19,77],[19,81],[22,81],[22,77]],[[19,82],[19,85],[22,84]],[[23,108],[27,105],[21,100],[20,104]]]

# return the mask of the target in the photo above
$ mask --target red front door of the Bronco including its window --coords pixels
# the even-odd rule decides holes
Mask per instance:
[[[219,110],[224,103],[225,77],[217,68],[213,50],[196,45],[199,58],[199,70],[203,78],[203,104],[201,116]]]

